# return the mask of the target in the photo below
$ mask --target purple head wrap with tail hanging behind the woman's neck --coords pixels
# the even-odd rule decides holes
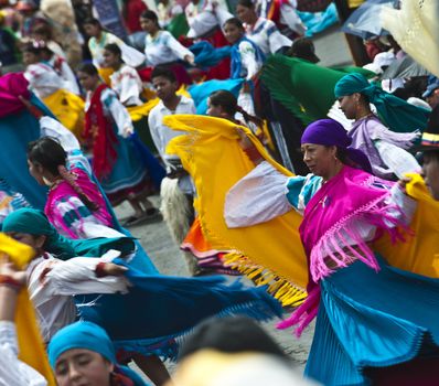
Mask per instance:
[[[333,119],[319,119],[309,125],[302,135],[300,143],[336,146],[345,149],[350,165],[372,174],[372,165],[367,156],[358,149],[350,148],[351,137],[344,127]]]

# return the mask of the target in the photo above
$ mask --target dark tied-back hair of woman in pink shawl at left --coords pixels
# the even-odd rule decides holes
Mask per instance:
[[[54,176],[61,176],[67,182],[79,200],[92,212],[96,212],[99,206],[94,203],[76,183],[74,175],[67,170],[67,153],[63,147],[51,137],[43,137],[28,144],[28,160],[33,164],[41,165]]]

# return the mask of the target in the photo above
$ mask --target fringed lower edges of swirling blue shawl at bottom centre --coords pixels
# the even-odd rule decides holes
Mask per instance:
[[[227,318],[234,315],[245,315],[259,322],[267,322],[275,317],[279,317],[280,310],[275,310],[264,299],[251,300],[245,303],[235,304],[225,308],[223,311],[207,318]],[[206,318],[206,319],[207,319]],[[113,343],[117,351],[121,351],[124,357],[131,354],[143,354],[160,356],[163,361],[170,360],[175,362],[179,356],[179,350],[184,340],[194,331],[195,326],[186,329],[182,332],[152,339],[132,339],[132,340],[114,340]],[[120,354],[120,353],[119,353]]]

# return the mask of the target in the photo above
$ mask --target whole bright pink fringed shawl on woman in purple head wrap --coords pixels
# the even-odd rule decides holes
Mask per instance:
[[[374,253],[361,236],[360,226],[362,223],[375,225],[376,238],[383,232],[388,232],[393,240],[401,238],[397,226],[405,224],[390,214],[399,208],[386,203],[390,186],[388,181],[344,167],[313,195],[299,229],[309,260],[308,298],[278,328],[298,325],[296,334],[301,334],[317,315],[319,281],[334,269],[349,266],[353,259],[363,261],[372,269],[379,269]]]

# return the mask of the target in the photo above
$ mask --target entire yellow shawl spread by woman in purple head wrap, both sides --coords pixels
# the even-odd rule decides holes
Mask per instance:
[[[188,132],[174,138],[167,151],[181,158],[184,169],[194,180],[201,226],[213,248],[236,250],[228,256],[232,267],[250,278],[257,277],[258,285],[270,285],[269,292],[285,305],[302,302],[308,269],[298,232],[301,216],[290,211],[263,224],[229,229],[223,215],[229,189],[255,168],[238,144],[237,129],[248,136],[260,154],[278,171],[293,174],[274,161],[246,127],[225,119],[191,115],[169,116],[163,122],[174,130]],[[383,237],[374,247],[395,267],[438,277],[439,203],[430,197],[419,175],[413,175],[407,192],[418,200],[411,228],[419,237],[407,235],[406,243],[396,245]]]

